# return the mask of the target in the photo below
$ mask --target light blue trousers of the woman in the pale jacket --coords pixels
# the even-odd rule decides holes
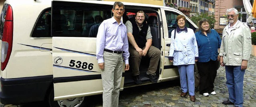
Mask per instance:
[[[189,95],[195,95],[194,64],[178,65],[180,74],[180,87],[183,93],[189,91]]]

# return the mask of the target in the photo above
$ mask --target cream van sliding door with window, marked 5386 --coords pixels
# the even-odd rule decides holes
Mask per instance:
[[[54,100],[103,92],[96,35],[100,21],[111,18],[112,5],[100,3],[52,1]]]

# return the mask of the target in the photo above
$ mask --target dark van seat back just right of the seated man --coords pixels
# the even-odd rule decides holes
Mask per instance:
[[[149,16],[148,17],[148,26],[150,27],[151,30],[151,35],[152,35],[152,46],[156,47],[159,49],[159,33],[158,33],[158,20],[156,16]]]

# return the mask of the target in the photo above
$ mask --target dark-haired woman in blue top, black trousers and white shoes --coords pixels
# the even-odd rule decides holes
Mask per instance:
[[[213,83],[218,69],[218,50],[220,50],[221,40],[219,34],[210,29],[207,19],[201,19],[199,26],[196,32],[199,53],[199,59],[196,62],[200,75],[199,91],[204,96],[209,96],[209,93],[216,95]]]

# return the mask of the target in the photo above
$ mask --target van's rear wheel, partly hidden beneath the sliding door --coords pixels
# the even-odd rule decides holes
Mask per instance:
[[[85,107],[85,97],[76,97],[70,99],[62,99],[58,101],[54,101],[54,90],[53,88],[50,91],[50,95],[48,97],[48,103],[50,107]]]

